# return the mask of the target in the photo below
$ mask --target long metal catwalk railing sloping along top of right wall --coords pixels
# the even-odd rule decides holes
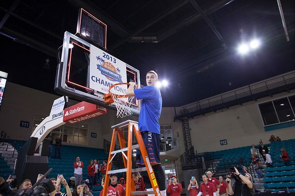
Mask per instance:
[[[207,99],[199,100],[197,102],[184,105],[176,109],[177,116],[181,115],[181,110],[185,109],[188,112],[196,112],[202,109],[210,108],[212,106],[217,106],[221,104],[226,104],[230,101],[235,101],[237,99],[255,95],[258,93],[266,92],[274,88],[288,86],[295,83],[295,71],[282,74],[277,77],[273,77],[258,83],[249,84],[237,88],[226,93],[222,93]]]

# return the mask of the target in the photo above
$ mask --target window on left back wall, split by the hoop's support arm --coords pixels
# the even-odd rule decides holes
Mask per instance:
[[[35,126],[33,126],[33,131],[45,117],[46,116],[40,114],[34,115]],[[57,138],[60,137],[62,142],[64,143],[87,145],[89,130],[88,127],[89,125],[85,123],[64,124],[52,130],[46,138],[51,136],[52,140],[55,141]]]

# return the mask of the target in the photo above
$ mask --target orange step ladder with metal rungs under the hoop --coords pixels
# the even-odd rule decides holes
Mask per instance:
[[[125,138],[123,129],[128,127],[128,138],[127,138],[127,146],[125,144]],[[113,129],[113,136],[111,140],[111,147],[110,147],[110,153],[109,153],[109,159],[108,159],[108,165],[107,165],[107,171],[106,176],[104,180],[104,189],[102,196],[106,196],[109,186],[109,180],[110,180],[110,174],[112,173],[120,173],[120,172],[126,172],[126,196],[136,196],[136,195],[147,195],[147,194],[154,194],[155,196],[161,196],[160,189],[155,177],[155,174],[153,172],[153,169],[150,165],[147,149],[145,147],[145,143],[142,139],[140,130],[138,128],[138,122],[133,120],[126,120],[124,122],[121,122],[117,125],[112,126]],[[132,133],[134,132],[136,140],[138,144],[132,145]],[[120,144],[120,149],[115,150],[115,143],[118,135],[118,140]],[[145,166],[144,168],[132,168],[132,150],[133,149],[140,149],[141,154],[143,156]],[[111,170],[112,168],[112,162],[116,154],[121,153],[124,167],[123,169],[116,169]],[[152,186],[153,191],[136,191],[134,186],[134,181],[132,177],[133,172],[140,172],[140,171],[147,171],[148,177],[150,180],[150,184]]]

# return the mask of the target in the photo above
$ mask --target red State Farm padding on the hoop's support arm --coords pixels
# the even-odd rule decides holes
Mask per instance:
[[[63,113],[63,122],[73,124],[103,115],[107,109],[83,101],[64,109]]]

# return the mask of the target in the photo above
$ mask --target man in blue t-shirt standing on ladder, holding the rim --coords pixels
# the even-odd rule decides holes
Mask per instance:
[[[139,115],[139,130],[145,143],[148,157],[159,185],[161,196],[166,196],[165,173],[160,161],[160,125],[159,118],[162,110],[162,97],[160,90],[155,86],[158,82],[158,74],[149,71],[146,75],[147,86],[134,89],[135,83],[130,82],[126,95],[142,99],[142,107]],[[140,150],[136,152],[136,164],[144,167],[144,160]],[[142,172],[147,191],[152,191],[147,171]],[[153,196],[153,195],[148,195]]]

